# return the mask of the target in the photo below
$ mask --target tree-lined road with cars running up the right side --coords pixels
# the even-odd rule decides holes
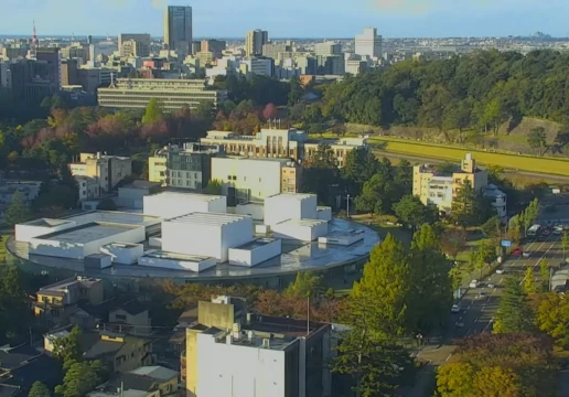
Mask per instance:
[[[498,308],[500,297],[503,291],[504,282],[508,276],[519,276],[524,281],[527,267],[534,269],[534,277],[539,281],[539,261],[547,259],[550,266],[556,266],[562,260],[562,251],[560,247],[560,236],[550,235],[545,237],[543,242],[533,242],[524,246],[524,251],[529,253],[529,257],[511,257],[498,269],[502,273],[493,273],[482,281],[480,288],[468,288],[464,296],[460,300],[460,313],[452,315],[453,333],[448,343],[440,346],[426,346],[417,354],[421,361],[429,362],[425,367],[419,380],[432,376],[433,367],[443,365],[452,360],[455,346],[452,344],[453,339],[464,337],[481,332],[491,332],[492,324]],[[491,283],[494,287],[489,288]],[[483,294],[481,294],[483,293]],[[463,326],[458,328],[454,324],[462,323]],[[567,382],[569,385],[569,380]],[[569,388],[569,386],[567,386]],[[416,387],[407,394],[408,397],[426,396],[425,382],[418,382]]]

